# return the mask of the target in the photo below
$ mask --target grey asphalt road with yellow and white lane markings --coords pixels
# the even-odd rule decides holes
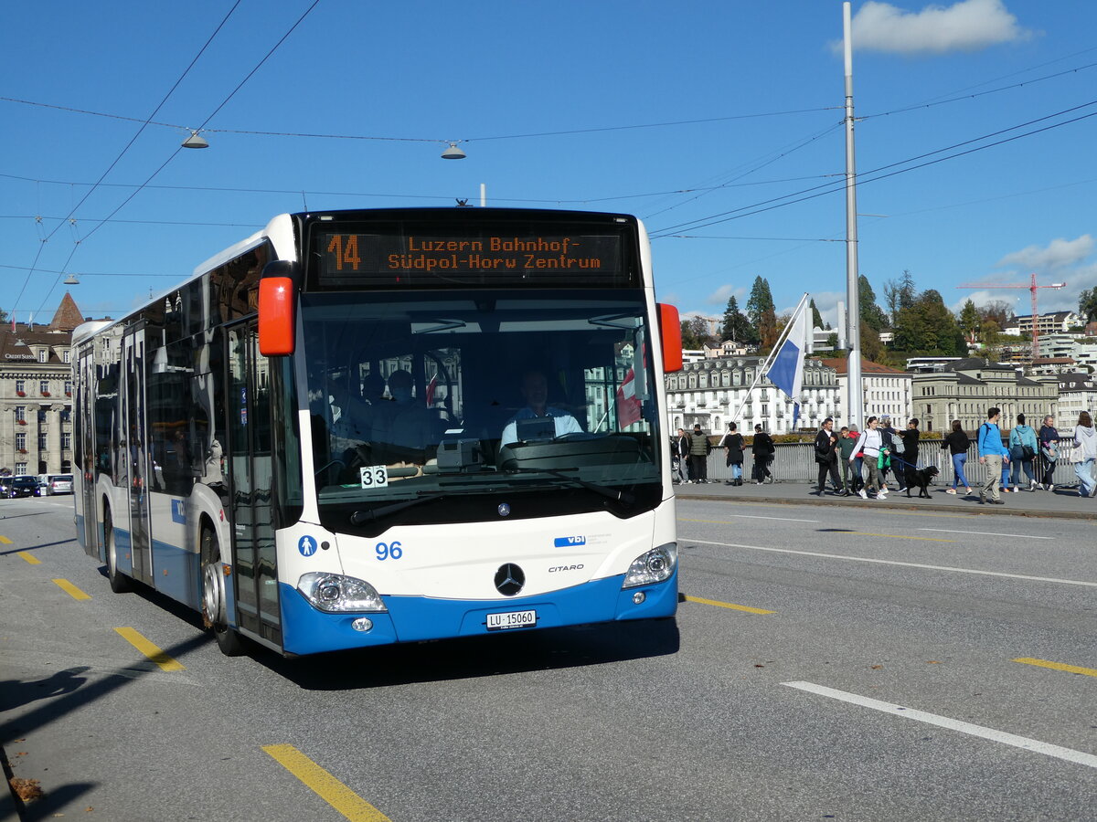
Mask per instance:
[[[678,511],[676,621],[286,661],[112,594],[68,500],[0,501],[25,819],[1097,818],[1092,523]]]

